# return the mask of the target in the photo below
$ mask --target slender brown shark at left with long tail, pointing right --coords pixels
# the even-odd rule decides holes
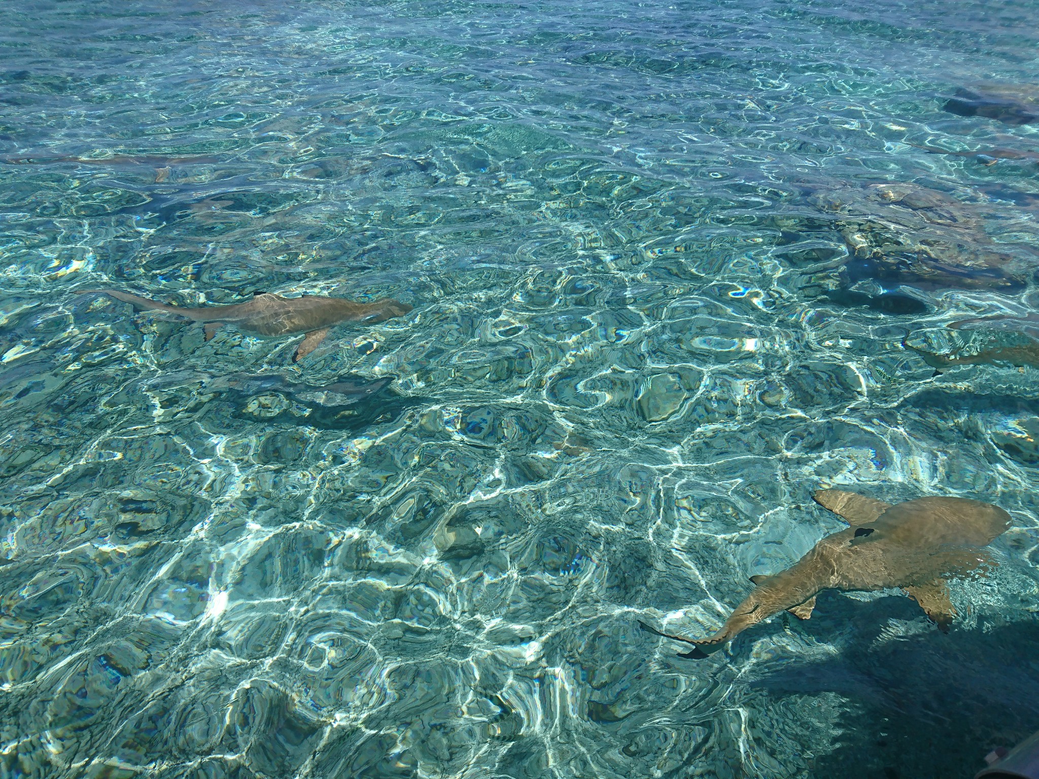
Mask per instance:
[[[338,297],[304,295],[302,297],[282,297],[261,293],[244,303],[212,305],[203,308],[186,308],[180,305],[160,303],[140,295],[131,295],[118,290],[80,290],[77,294],[111,295],[116,300],[130,303],[144,311],[161,311],[176,314],[195,322],[206,323],[206,340],[213,338],[225,324],[231,324],[248,332],[261,335],[285,335],[290,332],[305,332],[307,338],[296,349],[293,361],[305,357],[324,341],[328,330],[340,322],[381,322],[394,317],[402,317],[411,306],[399,300],[384,297],[374,303],[355,303]]]

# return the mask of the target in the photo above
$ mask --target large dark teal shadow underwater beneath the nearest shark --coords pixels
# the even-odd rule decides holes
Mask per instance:
[[[812,774],[847,779],[968,779],[994,747],[1011,747],[1039,728],[1039,620],[974,626],[943,635],[900,635],[889,620],[916,619],[908,597],[860,602],[820,597],[801,629],[850,639],[821,663],[777,669],[755,682],[773,695],[832,692],[848,703],[837,748]],[[894,629],[893,629],[894,628]]]

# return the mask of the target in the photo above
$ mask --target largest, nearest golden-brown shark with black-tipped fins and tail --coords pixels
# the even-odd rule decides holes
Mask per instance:
[[[965,498],[922,498],[897,506],[841,489],[821,489],[817,503],[851,526],[823,538],[787,570],[751,576],[756,585],[714,636],[693,640],[682,657],[705,657],[738,634],[781,611],[808,619],[823,590],[901,587],[944,633],[956,616],[945,580],[980,573],[993,563],[982,548],[1010,526],[997,506]]]

